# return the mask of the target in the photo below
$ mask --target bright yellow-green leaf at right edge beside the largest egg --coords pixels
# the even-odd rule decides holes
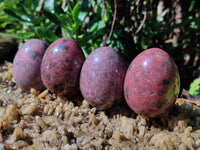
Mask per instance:
[[[191,95],[200,95],[200,78],[196,78],[190,84],[189,93]]]

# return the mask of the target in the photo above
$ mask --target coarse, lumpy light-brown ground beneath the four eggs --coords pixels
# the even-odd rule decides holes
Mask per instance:
[[[157,119],[136,115],[126,103],[97,110],[80,96],[22,91],[12,64],[0,66],[1,149],[197,149],[200,114],[176,104]]]

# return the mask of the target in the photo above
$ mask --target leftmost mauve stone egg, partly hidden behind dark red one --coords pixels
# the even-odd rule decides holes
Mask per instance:
[[[45,42],[31,39],[18,50],[13,61],[13,78],[20,88],[26,91],[30,88],[38,91],[45,89],[40,76],[40,66],[46,49]]]

